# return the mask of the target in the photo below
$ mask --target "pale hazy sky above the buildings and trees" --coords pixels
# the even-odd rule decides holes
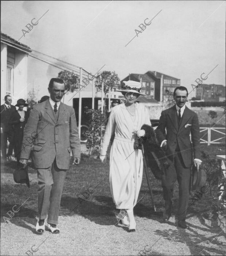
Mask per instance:
[[[102,70],[115,71],[120,80],[162,72],[191,91],[213,68],[203,83],[225,85],[225,9],[226,2],[217,0],[1,1],[1,32],[17,40],[46,13],[20,43],[92,74],[105,65]],[[153,20],[142,31],[145,19]],[[27,82],[39,90],[38,99],[48,95],[48,82],[60,71],[28,57]]]

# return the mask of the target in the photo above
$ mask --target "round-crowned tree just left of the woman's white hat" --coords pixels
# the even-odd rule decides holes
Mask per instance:
[[[97,75],[95,80],[95,86],[97,88],[97,91],[101,91],[102,82],[104,82],[104,98],[106,98],[109,87],[111,90],[118,88],[120,79],[118,78],[118,75],[115,73],[115,71],[102,71],[100,74]]]

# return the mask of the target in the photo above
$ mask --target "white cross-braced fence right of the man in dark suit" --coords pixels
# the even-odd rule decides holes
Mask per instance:
[[[204,135],[202,135],[202,132],[204,132]],[[200,127],[200,143],[207,143],[208,146],[210,144],[220,144],[225,143],[225,128],[215,128],[215,127]],[[204,136],[207,135],[207,140],[203,139]],[[222,135],[224,135],[222,137]],[[217,137],[217,138],[216,138]],[[222,140],[222,141],[219,141]]]

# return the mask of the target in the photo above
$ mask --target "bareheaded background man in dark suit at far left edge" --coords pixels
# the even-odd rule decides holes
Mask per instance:
[[[13,130],[12,126],[9,124],[9,119],[13,112],[16,111],[16,107],[11,105],[12,97],[10,95],[5,95],[5,103],[1,105],[1,154],[3,157],[3,162],[6,158],[11,158],[13,150]],[[9,148],[6,154],[7,140],[9,141]]]

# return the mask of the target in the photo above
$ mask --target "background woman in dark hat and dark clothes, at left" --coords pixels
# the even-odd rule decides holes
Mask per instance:
[[[27,111],[24,111],[23,108],[27,107],[28,105],[27,103],[25,103],[24,99],[18,99],[17,104],[15,106],[18,107],[18,110],[12,113],[11,118],[9,120],[9,124],[13,125],[13,150],[17,164],[19,165],[20,151],[24,134],[24,126],[26,125],[28,119],[28,113]]]

